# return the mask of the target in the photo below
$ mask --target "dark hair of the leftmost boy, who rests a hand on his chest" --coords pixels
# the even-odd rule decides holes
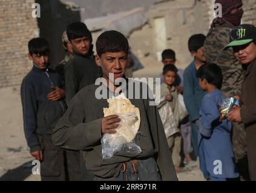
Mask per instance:
[[[49,55],[50,47],[46,39],[37,37],[28,42],[28,52],[30,55]]]

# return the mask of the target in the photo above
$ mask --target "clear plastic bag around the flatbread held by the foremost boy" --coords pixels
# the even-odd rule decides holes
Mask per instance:
[[[117,133],[106,133],[102,136],[101,144],[103,160],[113,157],[114,154],[121,151],[123,154],[142,153],[141,148],[134,142],[134,137],[136,136],[137,131],[131,129],[134,123],[138,120],[136,113],[127,112],[123,115],[119,115],[119,118],[121,121],[119,127],[116,128]]]

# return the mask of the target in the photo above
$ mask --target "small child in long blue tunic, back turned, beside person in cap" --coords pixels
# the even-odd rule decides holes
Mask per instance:
[[[197,71],[199,86],[208,93],[203,97],[199,119],[200,169],[212,181],[226,181],[239,176],[235,167],[231,144],[232,124],[220,120],[218,106],[225,96],[222,87],[222,70],[214,63],[206,63]]]

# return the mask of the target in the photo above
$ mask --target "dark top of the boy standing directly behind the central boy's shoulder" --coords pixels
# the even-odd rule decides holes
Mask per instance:
[[[94,57],[74,54],[65,65],[65,97],[67,104],[73,96],[85,86],[95,83],[101,71],[96,65]]]

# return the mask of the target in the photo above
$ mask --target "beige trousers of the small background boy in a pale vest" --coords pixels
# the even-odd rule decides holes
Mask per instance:
[[[180,156],[180,149],[182,147],[182,136],[180,133],[172,134],[167,139],[169,149],[171,151],[172,162],[175,166],[180,166],[182,157]]]

